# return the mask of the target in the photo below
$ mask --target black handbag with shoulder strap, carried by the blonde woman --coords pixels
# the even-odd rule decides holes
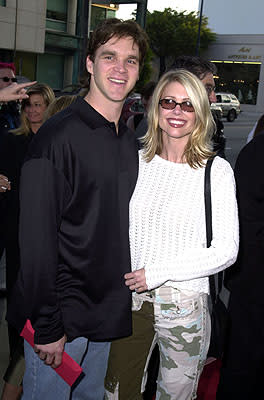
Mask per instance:
[[[212,202],[211,202],[211,166],[214,158],[207,161],[204,180],[206,242],[210,247],[212,241]],[[222,358],[227,336],[228,312],[227,307],[220,298],[223,287],[223,271],[209,276],[211,300],[211,339],[207,357]],[[217,283],[217,288],[216,288]]]

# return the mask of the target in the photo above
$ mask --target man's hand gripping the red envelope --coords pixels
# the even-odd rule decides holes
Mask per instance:
[[[61,365],[62,354],[64,351],[64,345],[67,342],[66,335],[64,335],[57,342],[48,344],[35,344],[34,351],[37,353],[39,358],[50,365],[52,368],[57,368]]]

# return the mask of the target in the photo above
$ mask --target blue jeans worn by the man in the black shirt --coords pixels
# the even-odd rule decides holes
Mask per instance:
[[[26,341],[24,349],[23,400],[103,400],[110,342],[91,342],[80,337],[65,344],[65,351],[84,372],[84,377],[73,389],[39,359]]]

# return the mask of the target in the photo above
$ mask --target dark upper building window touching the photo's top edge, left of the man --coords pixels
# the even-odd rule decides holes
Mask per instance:
[[[68,0],[47,0],[46,28],[67,31]]]

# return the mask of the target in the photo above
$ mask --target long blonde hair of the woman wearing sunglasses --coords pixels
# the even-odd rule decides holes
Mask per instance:
[[[193,132],[184,150],[183,158],[192,168],[204,165],[204,160],[210,158],[212,151],[211,137],[215,131],[215,123],[210,110],[208,95],[203,83],[191,72],[177,69],[164,74],[158,82],[152,96],[148,113],[148,131],[143,137],[144,158],[151,161],[155,154],[161,154],[163,142],[159,127],[159,101],[165,87],[171,82],[179,82],[186,90],[188,98],[195,111]]]

